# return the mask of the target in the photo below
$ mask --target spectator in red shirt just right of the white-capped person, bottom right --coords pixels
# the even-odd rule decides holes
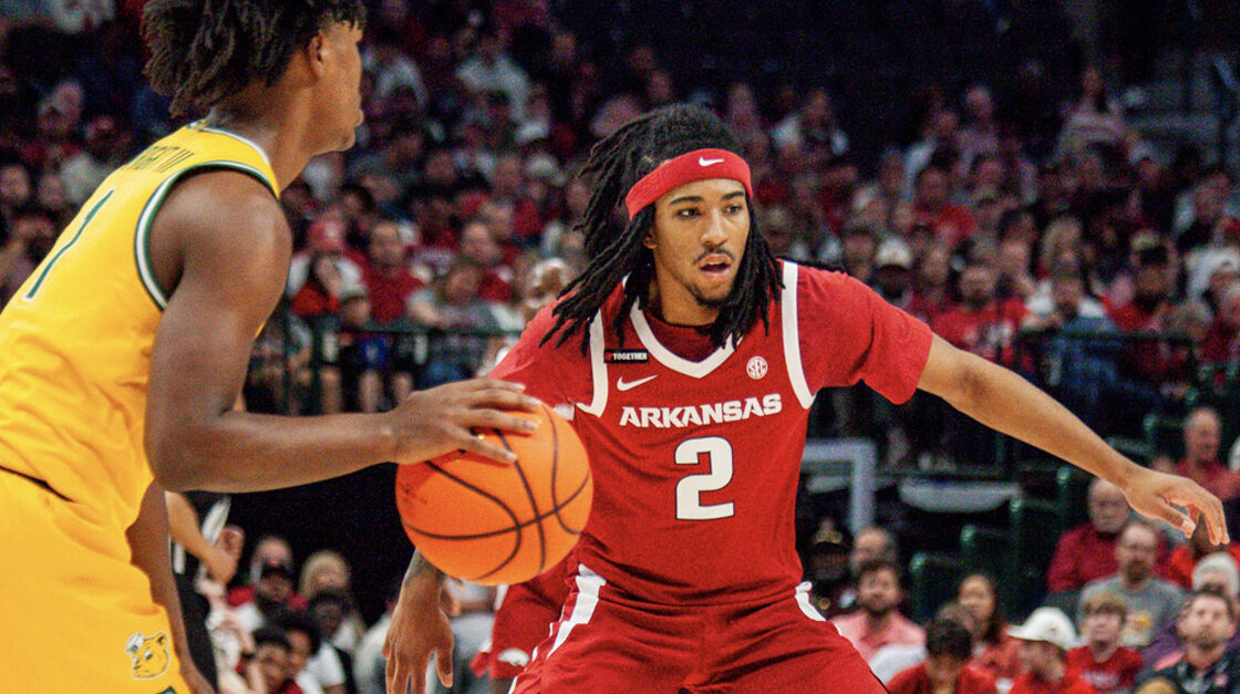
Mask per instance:
[[[1085,644],[1068,652],[1068,669],[1094,685],[1099,694],[1128,692],[1141,669],[1141,654],[1120,646],[1120,628],[1128,616],[1123,600],[1097,592],[1083,606]]]

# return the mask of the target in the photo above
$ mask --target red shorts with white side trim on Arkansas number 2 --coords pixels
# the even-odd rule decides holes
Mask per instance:
[[[808,602],[636,602],[582,566],[516,694],[879,694],[866,661]]]

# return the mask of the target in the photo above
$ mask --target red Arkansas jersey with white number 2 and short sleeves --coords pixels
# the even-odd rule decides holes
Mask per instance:
[[[735,346],[712,349],[639,306],[618,332],[618,286],[584,354],[579,336],[538,345],[554,322],[544,309],[492,372],[570,416],[594,475],[575,556],[621,595],[678,605],[791,595],[815,393],[864,379],[901,403],[916,389],[925,323],[847,275],[784,261],[782,280],[769,330],[759,321]]]

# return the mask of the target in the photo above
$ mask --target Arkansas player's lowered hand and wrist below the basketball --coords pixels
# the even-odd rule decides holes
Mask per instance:
[[[388,694],[424,694],[432,653],[439,682],[453,685],[453,628],[441,607],[444,574],[413,553],[383,641]],[[407,689],[409,688],[409,689]]]

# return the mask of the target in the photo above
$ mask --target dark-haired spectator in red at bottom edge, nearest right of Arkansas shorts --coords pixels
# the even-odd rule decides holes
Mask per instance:
[[[892,694],[994,694],[994,678],[968,658],[972,638],[960,622],[936,617],[926,625],[926,661],[887,684]]]

